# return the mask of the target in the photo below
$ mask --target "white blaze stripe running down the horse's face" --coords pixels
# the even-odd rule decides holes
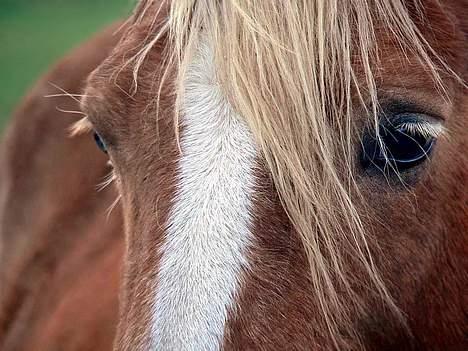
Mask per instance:
[[[219,350],[247,265],[256,147],[201,46],[185,82],[178,191],[162,247],[152,350]]]

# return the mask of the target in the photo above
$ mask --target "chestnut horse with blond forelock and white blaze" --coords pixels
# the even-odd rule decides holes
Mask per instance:
[[[80,349],[112,338],[118,351],[468,348],[465,1],[141,0],[105,56],[92,60],[85,117],[57,145],[99,160],[100,176],[108,158],[113,184],[95,195],[90,168],[56,159],[56,172],[89,180],[53,182],[57,206],[79,212],[60,216],[77,231],[60,254],[43,242],[63,237],[57,217],[33,205],[48,224],[38,234],[6,205],[31,195],[2,190],[6,263],[29,260],[5,270],[0,343],[21,349],[34,326],[26,349],[73,349],[78,337]],[[26,142],[21,128],[8,136]],[[90,139],[101,156],[81,145]],[[11,140],[3,150],[20,172]],[[48,153],[61,151],[37,157]],[[45,182],[48,170],[33,170]],[[109,224],[84,203],[112,196],[121,226],[106,241]],[[49,266],[31,267],[38,249],[11,239],[20,229],[5,230],[6,213],[39,237]],[[112,259],[88,262],[95,244]],[[35,274],[60,285],[60,258],[94,279],[22,286]],[[57,295],[71,300],[30,312]]]

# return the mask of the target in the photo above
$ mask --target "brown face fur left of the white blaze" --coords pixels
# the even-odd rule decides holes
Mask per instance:
[[[108,131],[115,130],[125,134],[134,131],[128,134],[125,141],[132,151],[113,154],[111,160],[115,165],[117,185],[123,195],[126,226],[135,229],[129,230],[126,238],[128,259],[124,262],[126,279],[121,289],[121,318],[116,348],[135,351],[146,350],[149,342],[154,294],[152,283],[157,276],[159,260],[157,249],[162,243],[164,223],[167,223],[172,205],[176,167],[174,160],[178,157],[172,120],[174,99],[170,87],[162,92],[158,120],[150,122],[147,128],[141,128],[142,116],[156,116],[154,99],[162,73],[161,48],[150,53],[142,71],[145,79],[139,80],[135,93],[132,93],[132,66],[116,71],[119,63],[136,54],[139,46],[135,43],[145,41],[148,28],[143,24],[125,35],[118,50],[89,78],[87,95],[97,97],[86,98],[83,102],[95,129],[108,140],[110,147],[119,146],[113,145],[114,134],[108,134]],[[106,84],[111,80],[115,80],[115,84]],[[119,106],[119,109],[115,106]],[[118,118],[121,113],[127,118]],[[112,117],[102,120],[94,118],[101,115]],[[158,129],[153,128],[156,125]],[[151,157],[141,158],[143,155]],[[126,169],[132,169],[132,174],[126,174]],[[158,189],[157,196],[155,189]],[[148,221],[150,217],[152,220]],[[135,324],[136,320],[140,321],[138,325]]]

